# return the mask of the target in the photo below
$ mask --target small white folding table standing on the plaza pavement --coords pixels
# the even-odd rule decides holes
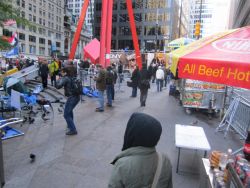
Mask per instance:
[[[202,127],[180,124],[175,125],[175,146],[178,148],[176,173],[179,171],[181,148],[205,151],[204,157],[211,149]]]

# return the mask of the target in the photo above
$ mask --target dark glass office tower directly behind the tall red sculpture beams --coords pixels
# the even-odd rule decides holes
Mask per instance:
[[[134,0],[134,17],[140,49],[163,51],[178,35],[178,1]],[[95,0],[94,36],[100,38],[102,1]],[[112,46],[114,50],[133,50],[133,41],[125,0],[114,0]]]

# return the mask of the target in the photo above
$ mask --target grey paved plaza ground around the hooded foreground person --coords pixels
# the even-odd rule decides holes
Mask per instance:
[[[123,83],[117,91],[112,108],[95,112],[96,99],[85,101],[75,109],[78,135],[66,136],[66,122],[55,109],[54,124],[24,124],[25,135],[3,142],[5,179],[4,188],[105,188],[111,174],[110,162],[121,151],[127,121],[133,112],[144,112],[156,117],[163,132],[157,149],[168,154],[173,166],[175,188],[198,188],[203,152],[182,150],[180,173],[176,174],[177,149],[175,124],[189,124],[204,128],[212,150],[236,150],[241,142],[232,134],[224,139],[215,129],[219,119],[210,120],[206,114],[187,115],[179,101],[168,95],[168,89],[158,93],[152,85],[146,107],[140,107],[139,96],[130,98],[131,88]],[[29,154],[36,160],[31,163]],[[210,152],[208,152],[209,154]]]

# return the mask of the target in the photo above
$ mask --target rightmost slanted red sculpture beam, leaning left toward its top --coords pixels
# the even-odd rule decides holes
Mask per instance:
[[[136,33],[136,25],[135,25],[135,18],[134,18],[134,11],[132,7],[132,0],[126,0],[127,3],[127,9],[128,9],[128,16],[129,16],[129,23],[130,23],[130,28],[132,32],[132,39],[134,43],[134,48],[135,48],[135,59],[136,63],[139,66],[139,68],[142,67],[142,60],[141,60],[141,53],[139,49],[139,44],[138,44],[138,37]]]

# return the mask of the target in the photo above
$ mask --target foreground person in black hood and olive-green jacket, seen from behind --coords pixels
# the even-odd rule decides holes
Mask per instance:
[[[144,113],[133,113],[127,123],[122,152],[115,157],[109,188],[172,188],[172,165],[156,151],[161,123]]]

